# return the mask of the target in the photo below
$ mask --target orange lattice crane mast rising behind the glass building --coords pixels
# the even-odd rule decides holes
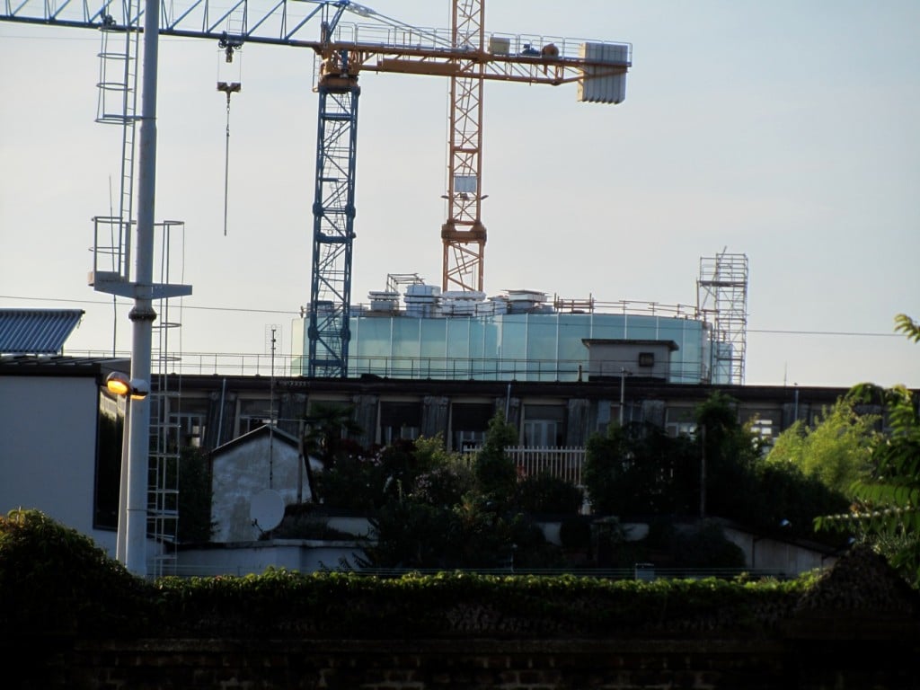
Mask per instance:
[[[455,51],[485,53],[484,0],[454,0],[452,43]],[[450,142],[447,165],[447,220],[441,288],[483,290],[486,226],[482,224],[482,92],[485,63],[461,63],[451,75]]]

